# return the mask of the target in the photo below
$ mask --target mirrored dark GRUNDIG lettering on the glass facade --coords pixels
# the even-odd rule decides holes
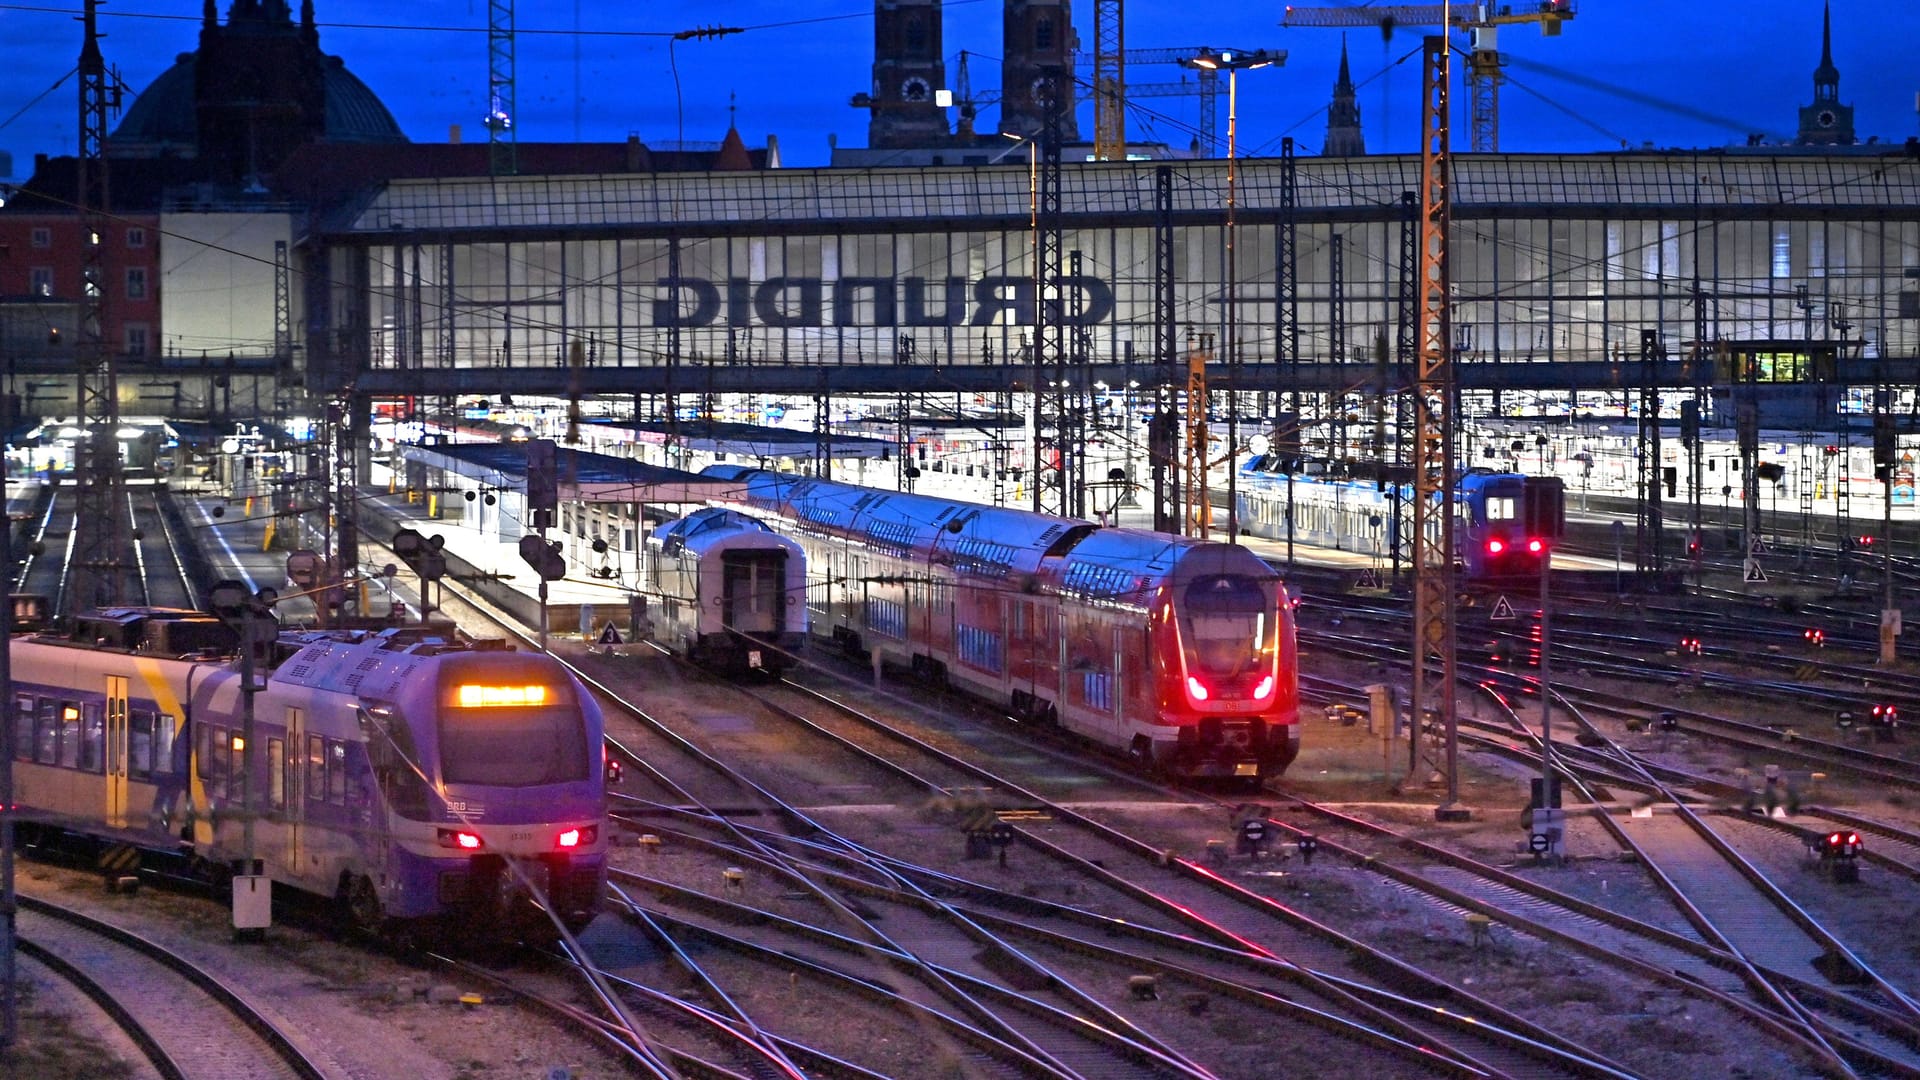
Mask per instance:
[[[939,298],[927,282],[945,284]],[[818,277],[772,277],[753,281],[730,277],[659,279],[653,300],[655,327],[987,327],[996,321],[1033,325],[1031,277],[843,277],[828,284]],[[674,296],[678,286],[678,298]],[[1048,321],[1064,327],[1091,327],[1114,313],[1114,288],[1085,275],[1060,279],[1062,298],[1046,302]],[[724,311],[722,311],[724,309]]]

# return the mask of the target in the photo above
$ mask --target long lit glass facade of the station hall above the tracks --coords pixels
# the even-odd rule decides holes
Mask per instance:
[[[372,367],[1023,363],[1035,306],[1094,363],[1156,350],[1156,169],[1173,171],[1177,334],[1273,361],[1281,161],[1068,165],[1066,281],[1035,296],[1025,161],[952,169],[397,181],[324,234],[365,252],[334,329]],[[1298,167],[1302,361],[1398,331],[1413,158]],[[1467,363],[1640,356],[1640,331],[1920,346],[1912,156],[1463,156],[1453,336]],[[1342,246],[1338,311],[1332,238]],[[334,256],[338,259],[338,256]],[[338,263],[336,263],[338,265]],[[338,275],[336,275],[338,277]],[[1235,296],[1225,282],[1235,281]],[[1334,357],[1334,342],[1344,356]],[[355,350],[357,352],[357,350]]]

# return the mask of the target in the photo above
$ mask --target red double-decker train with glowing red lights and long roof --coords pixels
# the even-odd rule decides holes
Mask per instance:
[[[1263,780],[1300,751],[1292,601],[1233,544],[712,465],[806,552],[810,630],[1148,771]]]

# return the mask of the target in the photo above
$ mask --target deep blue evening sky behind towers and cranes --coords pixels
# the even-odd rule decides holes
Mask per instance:
[[[467,140],[484,136],[478,119],[488,81],[486,0],[315,0],[315,6],[321,46],[372,86],[409,138],[440,142],[451,125],[461,125]],[[221,0],[223,17],[225,8]],[[77,4],[0,4],[0,119],[19,111],[0,129],[0,150],[13,154],[15,177],[31,171],[35,152],[71,154],[77,142],[71,79],[31,104],[73,69],[77,12]],[[1240,77],[1238,146],[1242,154],[1273,154],[1279,138],[1292,135],[1300,152],[1313,154],[1325,135],[1323,110],[1342,33],[1283,29],[1281,13],[1281,4],[1242,0],[1133,0],[1127,44],[1286,50],[1284,67]],[[1091,17],[1091,0],[1075,6],[1081,46],[1089,50]],[[115,0],[102,8],[108,63],[140,90],[179,52],[196,46],[198,21],[196,0]],[[874,60],[872,6],[862,0],[520,0],[516,21],[522,140],[624,140],[637,133],[647,142],[672,142],[682,115],[687,140],[718,140],[733,94],[747,142],[756,146],[778,135],[787,165],[826,163],[829,135],[845,146],[866,144],[866,113],[847,104],[868,88]],[[672,31],[712,25],[747,31],[685,40],[670,56]],[[1000,0],[948,0],[945,33],[948,56],[962,48],[977,54],[975,88],[996,86]],[[1402,29],[1384,42],[1375,29],[1346,35],[1354,79],[1363,83],[1359,104],[1369,150],[1417,148],[1419,60],[1407,54],[1417,50],[1421,33]],[[1920,135],[1914,42],[1920,42],[1920,4],[1836,0],[1839,96],[1857,108],[1862,140],[1878,135],[1882,142],[1903,142]],[[1501,90],[1501,150],[1607,150],[1622,140],[1724,146],[1745,142],[1749,133],[1791,138],[1795,108],[1812,98],[1820,4],[1580,0],[1561,37],[1505,27],[1500,46],[1513,56],[1511,81]],[[680,69],[678,108],[670,60]],[[1129,67],[1129,83],[1173,83],[1181,75],[1177,67]],[[1596,85],[1626,88],[1638,100]],[[1465,94],[1455,96],[1455,108],[1465,111]],[[989,108],[981,127],[995,121]],[[1225,135],[1225,102],[1219,121]],[[1129,138],[1187,144],[1196,123],[1192,96],[1137,98],[1127,131]],[[1092,133],[1091,110],[1083,110],[1081,129]],[[1465,148],[1465,115],[1455,142]]]

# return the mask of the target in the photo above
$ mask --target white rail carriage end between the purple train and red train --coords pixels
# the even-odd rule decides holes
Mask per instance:
[[[756,517],[707,507],[647,534],[653,638],[687,659],[780,675],[806,644],[806,552]]]

